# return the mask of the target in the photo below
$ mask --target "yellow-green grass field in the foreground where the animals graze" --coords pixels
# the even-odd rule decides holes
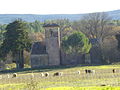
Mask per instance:
[[[86,74],[85,69],[95,73]],[[16,78],[12,78],[12,72],[1,72],[0,90],[120,90],[120,65],[28,69],[18,71]],[[42,77],[45,72],[50,75]],[[53,76],[55,72],[63,75]]]

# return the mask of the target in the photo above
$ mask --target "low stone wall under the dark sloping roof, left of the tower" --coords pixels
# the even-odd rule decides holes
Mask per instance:
[[[31,55],[31,68],[48,66],[48,55]]]

